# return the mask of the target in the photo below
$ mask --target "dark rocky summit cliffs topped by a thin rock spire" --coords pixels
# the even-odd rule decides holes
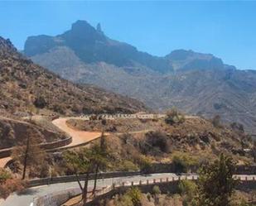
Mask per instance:
[[[70,31],[59,36],[31,36],[25,44],[27,56],[41,55],[56,47],[65,46],[85,63],[104,61],[110,65],[146,65],[150,69],[171,69],[168,61],[138,51],[134,46],[114,41],[101,29],[94,29],[88,22],[77,21]]]

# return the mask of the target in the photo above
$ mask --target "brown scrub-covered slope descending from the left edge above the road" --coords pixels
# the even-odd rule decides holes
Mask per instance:
[[[76,85],[17,52],[0,37],[0,114],[134,113],[146,108],[137,100],[90,85]]]

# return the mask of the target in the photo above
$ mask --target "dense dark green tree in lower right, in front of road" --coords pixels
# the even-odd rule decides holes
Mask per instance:
[[[229,206],[237,184],[232,178],[234,170],[234,160],[223,154],[220,160],[203,165],[198,180],[198,205]]]

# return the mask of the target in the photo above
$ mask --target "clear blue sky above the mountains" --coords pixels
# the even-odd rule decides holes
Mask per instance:
[[[191,49],[256,69],[256,2],[1,1],[0,36],[22,49],[27,36],[55,36],[78,19],[152,55]]]

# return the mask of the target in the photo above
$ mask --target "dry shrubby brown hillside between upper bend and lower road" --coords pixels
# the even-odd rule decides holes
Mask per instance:
[[[68,125],[78,131],[109,133],[105,138],[111,156],[108,170],[144,170],[145,165],[170,164],[176,158],[188,165],[198,165],[215,159],[220,153],[233,156],[239,164],[254,162],[252,154],[244,150],[253,148],[253,141],[245,132],[216,126],[201,117],[186,117],[184,122],[173,124],[163,118],[104,122],[70,119]],[[56,162],[57,174],[68,172],[62,164],[62,161]],[[159,167],[159,170],[164,169]]]

